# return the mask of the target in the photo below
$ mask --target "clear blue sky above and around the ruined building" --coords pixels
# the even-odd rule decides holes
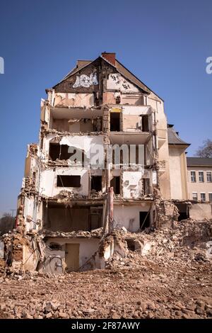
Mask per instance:
[[[0,14],[0,215],[16,208],[40,98],[77,59],[116,52],[165,100],[168,122],[192,143],[189,156],[212,138],[211,0],[1,0]]]

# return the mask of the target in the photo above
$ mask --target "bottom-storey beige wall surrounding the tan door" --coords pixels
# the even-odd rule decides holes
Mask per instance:
[[[61,258],[65,258],[65,244],[80,244],[79,245],[79,267],[83,266],[83,264],[86,263],[86,261],[88,261],[88,259],[91,258],[91,256],[93,256],[93,254],[95,254],[96,251],[98,251],[98,246],[100,243],[100,239],[97,238],[76,238],[76,239],[65,239],[65,238],[49,238],[47,240],[47,244],[49,244],[50,242],[56,242],[60,245],[64,245],[64,249],[62,251],[58,251],[59,255],[61,256]],[[50,250],[48,249],[48,252],[50,252]],[[54,254],[57,251],[54,251]],[[89,269],[89,267],[87,267],[87,269]],[[91,269],[91,267],[90,267]]]

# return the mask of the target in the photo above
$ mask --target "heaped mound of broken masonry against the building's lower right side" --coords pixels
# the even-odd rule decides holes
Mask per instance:
[[[124,252],[124,256],[114,251],[112,258],[107,261],[108,269],[114,266],[139,268],[143,256],[165,266],[174,261],[181,266],[192,265],[194,260],[210,261],[208,242],[212,239],[212,224],[209,220],[182,220],[154,232],[146,230],[133,234],[122,228],[114,230],[114,237],[119,242],[129,244],[129,251]]]

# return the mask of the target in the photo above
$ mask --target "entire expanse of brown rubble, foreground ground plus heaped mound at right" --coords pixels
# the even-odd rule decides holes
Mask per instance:
[[[115,230],[106,269],[64,275],[1,270],[1,317],[212,317],[211,221],[154,232]],[[104,242],[104,244],[105,244]]]

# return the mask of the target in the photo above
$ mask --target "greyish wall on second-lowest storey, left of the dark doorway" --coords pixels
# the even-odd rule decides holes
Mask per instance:
[[[116,227],[126,227],[131,232],[136,232],[140,227],[139,212],[148,211],[150,206],[147,203],[136,206],[114,205],[114,221]]]

